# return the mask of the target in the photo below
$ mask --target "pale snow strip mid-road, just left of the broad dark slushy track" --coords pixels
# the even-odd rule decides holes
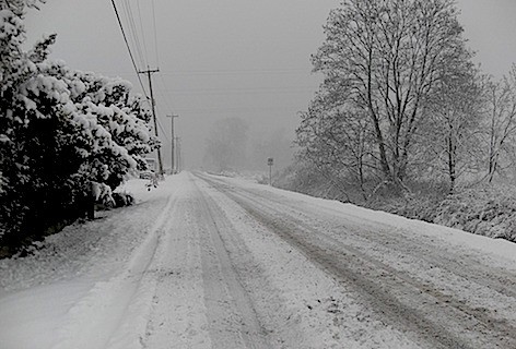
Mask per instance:
[[[333,316],[324,318],[328,314],[326,305],[331,306],[327,303],[332,299],[330,294],[335,294],[335,281],[302,255],[292,253],[289,244],[250,218],[224,193],[199,177],[196,181],[231,220],[232,229],[220,230],[221,238],[265,328],[269,348],[342,348],[332,325]],[[312,301],[317,304],[314,312],[308,306]],[[357,327],[353,327],[350,336],[360,330]],[[375,339],[396,336],[375,335]]]

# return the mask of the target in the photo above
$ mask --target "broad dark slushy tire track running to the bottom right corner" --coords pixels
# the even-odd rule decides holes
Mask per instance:
[[[366,302],[384,313],[382,316],[410,328],[432,347],[516,347],[514,327],[504,324],[497,324],[494,327],[493,318],[468,309],[460,302],[454,302],[438,290],[423,286],[409,276],[344,245],[321,232],[320,228],[306,225],[293,216],[279,219],[273,214],[277,209],[274,205],[278,203],[271,205],[265,202],[263,197],[257,200],[255,193],[237,192],[236,188],[223,181],[202,178],[215,186],[222,185],[227,196],[294,248],[301,250],[315,264],[343,280],[345,286],[353,285],[365,296]],[[282,213],[284,214],[283,210]],[[377,282],[379,279],[382,285]],[[385,286],[389,286],[390,289],[385,289]],[[412,304],[407,302],[407,298],[412,301]],[[426,304],[421,305],[418,302],[426,302]],[[448,323],[443,324],[443,320]],[[450,324],[454,325],[453,333],[448,330]],[[456,334],[460,334],[460,337]]]

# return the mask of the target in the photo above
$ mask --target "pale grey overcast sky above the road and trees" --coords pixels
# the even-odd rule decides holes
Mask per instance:
[[[179,115],[176,135],[183,139],[186,164],[198,166],[204,139],[218,119],[239,117],[253,134],[285,129],[293,135],[297,112],[307,108],[319,84],[310,73],[309,57],[324,40],[329,11],[340,1],[115,2],[138,69],[160,69],[153,84],[165,149],[171,145],[165,116]],[[457,3],[477,62],[496,76],[507,72],[516,61],[516,1]],[[51,58],[73,69],[121,76],[141,91],[110,1],[47,0],[40,11],[28,12],[26,25],[30,43],[43,33],[58,34]],[[131,27],[140,35],[139,45]],[[148,88],[146,77],[141,79]]]

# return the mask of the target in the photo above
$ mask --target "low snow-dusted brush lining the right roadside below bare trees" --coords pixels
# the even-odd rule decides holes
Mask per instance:
[[[274,185],[319,196],[385,210],[403,217],[462,229],[476,234],[516,242],[516,186],[483,183],[458,188],[448,195],[446,183],[409,183],[409,191],[392,194],[375,191],[367,201],[356,194],[359,189],[337,188],[308,166],[297,164],[284,171]]]

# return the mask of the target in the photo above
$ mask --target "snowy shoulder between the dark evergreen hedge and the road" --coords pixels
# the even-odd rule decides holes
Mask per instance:
[[[47,237],[31,255],[0,260],[0,348],[101,348],[117,327],[124,335],[113,348],[139,344],[133,337],[144,330],[153,294],[140,272],[175,190],[171,180],[162,190],[145,183],[119,189],[134,194],[133,206],[97,213]],[[129,309],[128,299],[136,300]],[[140,321],[125,324],[126,309]]]

